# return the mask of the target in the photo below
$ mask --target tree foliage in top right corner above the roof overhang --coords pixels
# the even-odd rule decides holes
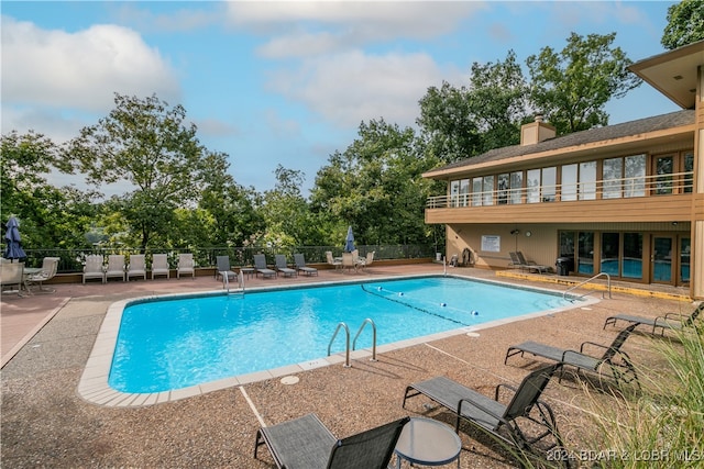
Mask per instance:
[[[704,2],[682,0],[670,5],[668,24],[664,26],[660,44],[672,51],[702,40],[704,40]]]

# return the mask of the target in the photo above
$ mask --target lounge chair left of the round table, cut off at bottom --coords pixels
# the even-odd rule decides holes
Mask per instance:
[[[385,469],[408,417],[337,439],[317,415],[308,414],[256,432],[257,448],[266,444],[278,468]]]

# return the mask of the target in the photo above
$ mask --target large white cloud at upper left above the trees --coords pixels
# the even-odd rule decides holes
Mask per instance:
[[[67,33],[2,18],[2,105],[105,111],[113,93],[156,93],[179,88],[168,63],[139,34],[116,25]]]

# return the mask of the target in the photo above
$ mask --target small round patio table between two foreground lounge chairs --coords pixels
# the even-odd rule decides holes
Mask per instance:
[[[462,442],[448,425],[430,418],[414,417],[405,426],[394,450],[396,467],[402,460],[411,465],[443,466],[454,460],[460,467]]]

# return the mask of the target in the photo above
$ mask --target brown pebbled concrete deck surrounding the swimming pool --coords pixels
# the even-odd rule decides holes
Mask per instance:
[[[560,278],[498,277],[480,269],[449,269],[453,275],[530,284],[563,291]],[[319,278],[252,279],[249,286],[362,279],[365,276],[440,273],[437,264],[371,267],[365,273],[321,270]],[[506,272],[510,273],[510,272]],[[538,280],[538,281],[536,281]],[[584,340],[609,343],[618,330],[602,330],[616,312],[657,315],[690,312],[684,290],[623,286],[612,299],[588,309],[503,324],[473,335],[454,335],[405,348],[384,350],[378,361],[354,358],[351,368],[332,365],[296,372],[295,384],[279,377],[237,384],[205,394],[142,407],[106,407],[84,400],[77,389],[98,331],[110,305],[132,298],[217,290],[212,277],[155,281],[111,281],[108,284],[58,284],[56,293],[2,297],[2,448],[3,467],[234,467],[268,468],[264,449],[252,458],[254,435],[262,424],[275,424],[316,412],[343,437],[403,415],[449,414],[416,399],[402,409],[410,382],[448,376],[491,395],[501,382],[518,383],[540,360],[515,358],[503,364],[508,346],[528,338],[575,347]],[[628,287],[628,288],[627,288]],[[641,294],[642,293],[642,294]],[[593,294],[601,298],[601,294]],[[638,365],[658,366],[654,345],[646,334],[629,338],[625,349]],[[558,415],[561,433],[584,449],[582,429],[590,399],[579,383],[552,380],[544,393]],[[607,399],[600,395],[596,399]],[[610,399],[614,399],[613,397]],[[492,445],[461,433],[461,467],[510,467]],[[486,442],[484,442],[486,443]],[[586,445],[586,446],[585,446]]]

